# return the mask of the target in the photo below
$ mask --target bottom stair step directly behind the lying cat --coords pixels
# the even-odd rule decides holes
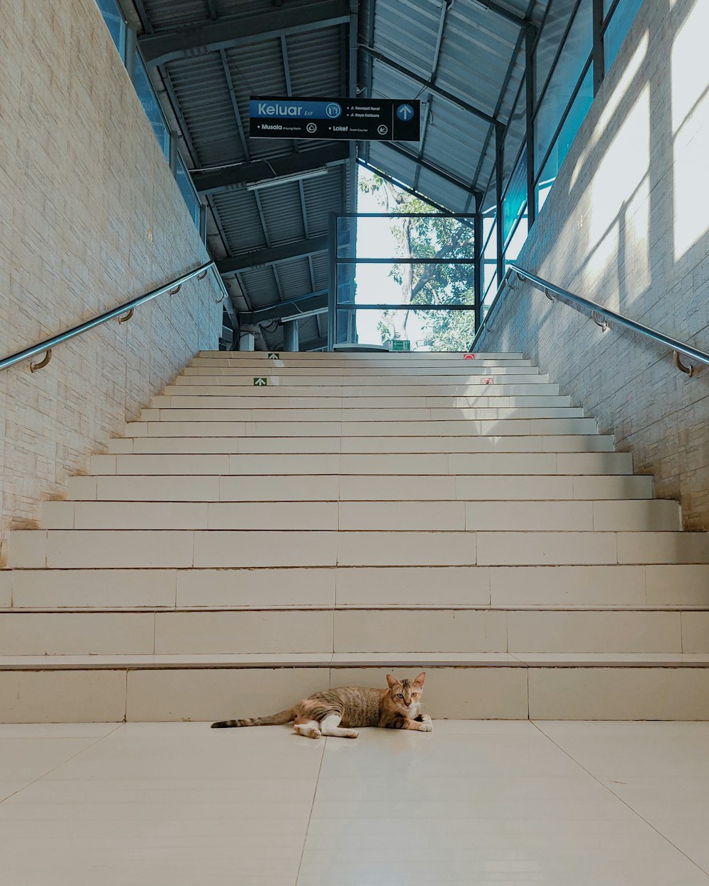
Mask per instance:
[[[3,719],[260,716],[324,688],[382,687],[387,672],[420,670],[434,719],[709,719],[705,655],[46,658],[0,658]]]

